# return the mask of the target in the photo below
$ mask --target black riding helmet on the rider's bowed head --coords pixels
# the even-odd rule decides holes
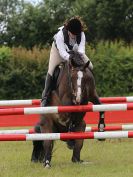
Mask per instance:
[[[74,35],[78,35],[82,31],[82,24],[79,19],[70,19],[66,25],[66,29]]]

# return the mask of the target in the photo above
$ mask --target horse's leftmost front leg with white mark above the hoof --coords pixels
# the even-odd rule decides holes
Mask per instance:
[[[41,133],[53,133],[52,131],[52,121],[50,118],[46,118],[41,121]],[[43,165],[45,168],[51,167],[51,158],[52,158],[52,150],[53,150],[53,140],[44,140],[43,141],[43,148],[44,148],[44,159]]]

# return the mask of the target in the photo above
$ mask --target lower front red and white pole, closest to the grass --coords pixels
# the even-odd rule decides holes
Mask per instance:
[[[40,141],[40,140],[106,139],[106,138],[111,139],[133,138],[133,131],[0,135],[0,141]]]

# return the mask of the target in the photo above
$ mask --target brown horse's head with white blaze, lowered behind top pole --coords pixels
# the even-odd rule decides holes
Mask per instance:
[[[85,104],[87,98],[86,84],[88,83],[88,63],[84,63],[83,56],[78,52],[71,52],[70,77],[72,101],[74,104]]]

